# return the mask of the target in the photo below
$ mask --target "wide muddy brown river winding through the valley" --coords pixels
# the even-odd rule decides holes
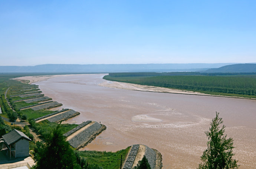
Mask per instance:
[[[197,168],[207,147],[204,132],[217,111],[226,125],[225,134],[234,139],[234,158],[240,168],[255,168],[256,100],[113,89],[98,85],[106,81],[103,76],[61,76],[33,83],[62,103],[60,108],[81,113],[67,122],[93,120],[106,125],[82,150],[115,152],[145,144],[161,152],[163,169]],[[140,121],[140,117],[153,120]]]

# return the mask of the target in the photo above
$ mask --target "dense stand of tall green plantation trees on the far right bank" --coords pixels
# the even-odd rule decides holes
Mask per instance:
[[[246,76],[156,76],[141,78],[139,83],[178,89],[256,95],[256,78]]]

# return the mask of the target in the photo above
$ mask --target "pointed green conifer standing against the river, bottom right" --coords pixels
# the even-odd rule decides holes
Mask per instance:
[[[208,137],[207,149],[201,156],[202,163],[199,164],[199,169],[230,169],[237,168],[237,161],[233,159],[233,139],[224,136],[225,126],[219,127],[222,124],[222,118],[216,112],[216,117],[211,122],[209,131],[206,131]]]

